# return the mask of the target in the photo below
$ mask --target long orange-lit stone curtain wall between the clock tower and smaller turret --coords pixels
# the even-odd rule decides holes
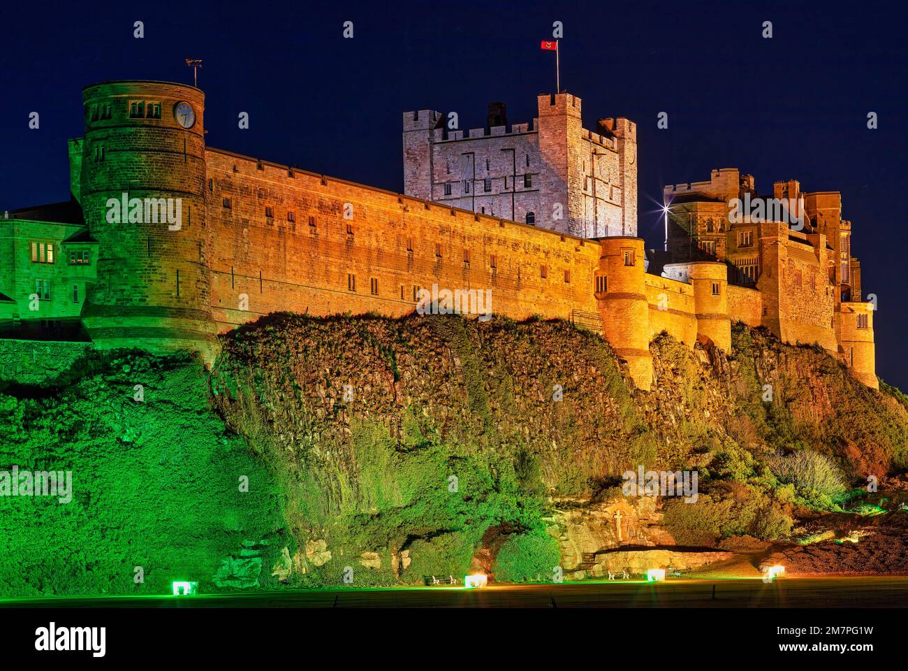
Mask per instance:
[[[209,149],[207,164],[222,330],[281,310],[405,315],[414,288],[433,284],[490,289],[492,312],[517,319],[596,312],[595,242],[221,150]]]

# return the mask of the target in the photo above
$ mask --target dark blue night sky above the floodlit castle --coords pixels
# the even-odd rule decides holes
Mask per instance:
[[[564,24],[561,85],[584,125],[637,122],[640,235],[662,241],[662,185],[717,167],[806,191],[841,191],[864,296],[879,296],[877,373],[908,388],[903,204],[908,198],[908,10],[902,3],[104,3],[5,7],[0,42],[0,209],[68,197],[66,139],[81,89],[107,79],[192,83],[204,59],[207,143],[400,191],[400,113],[457,111],[485,125],[536,115],[555,88],[539,49]],[[133,22],[144,22],[143,39]],[[344,39],[342,24],[354,24]],[[773,39],[761,36],[773,22]],[[28,129],[28,115],[41,128]],[[667,130],[656,115],[667,112]],[[250,128],[237,115],[250,114]],[[868,130],[868,112],[879,128]]]

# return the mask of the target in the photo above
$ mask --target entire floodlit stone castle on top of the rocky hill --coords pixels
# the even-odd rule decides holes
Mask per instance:
[[[402,316],[443,287],[597,330],[646,390],[654,335],[727,350],[734,320],[819,343],[877,386],[838,194],[806,195],[798,232],[730,225],[729,199],[753,190],[737,171],[666,187],[676,256],[656,268],[636,236],[636,126],[587,131],[574,95],[539,96],[538,119],[510,131],[494,105],[467,137],[438,112],[404,113],[403,195],[206,146],[190,85],[106,82],[83,103],[71,200],[0,222],[6,337],[211,360],[218,333],[262,315]]]

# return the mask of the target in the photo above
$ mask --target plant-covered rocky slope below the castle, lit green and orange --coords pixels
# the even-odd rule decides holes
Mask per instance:
[[[726,357],[658,335],[649,394],[558,321],[271,315],[207,373],[91,353],[0,394],[0,470],[74,474],[72,504],[0,497],[0,595],[546,581],[553,499],[620,496],[637,466],[696,470],[698,500],[667,503],[665,526],[713,546],[791,536],[799,507],[860,506],[867,473],[906,464],[901,392],[733,337]]]

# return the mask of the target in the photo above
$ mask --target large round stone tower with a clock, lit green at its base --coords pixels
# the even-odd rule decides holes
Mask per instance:
[[[83,90],[82,206],[98,241],[84,324],[101,348],[213,352],[204,94],[117,81]]]

